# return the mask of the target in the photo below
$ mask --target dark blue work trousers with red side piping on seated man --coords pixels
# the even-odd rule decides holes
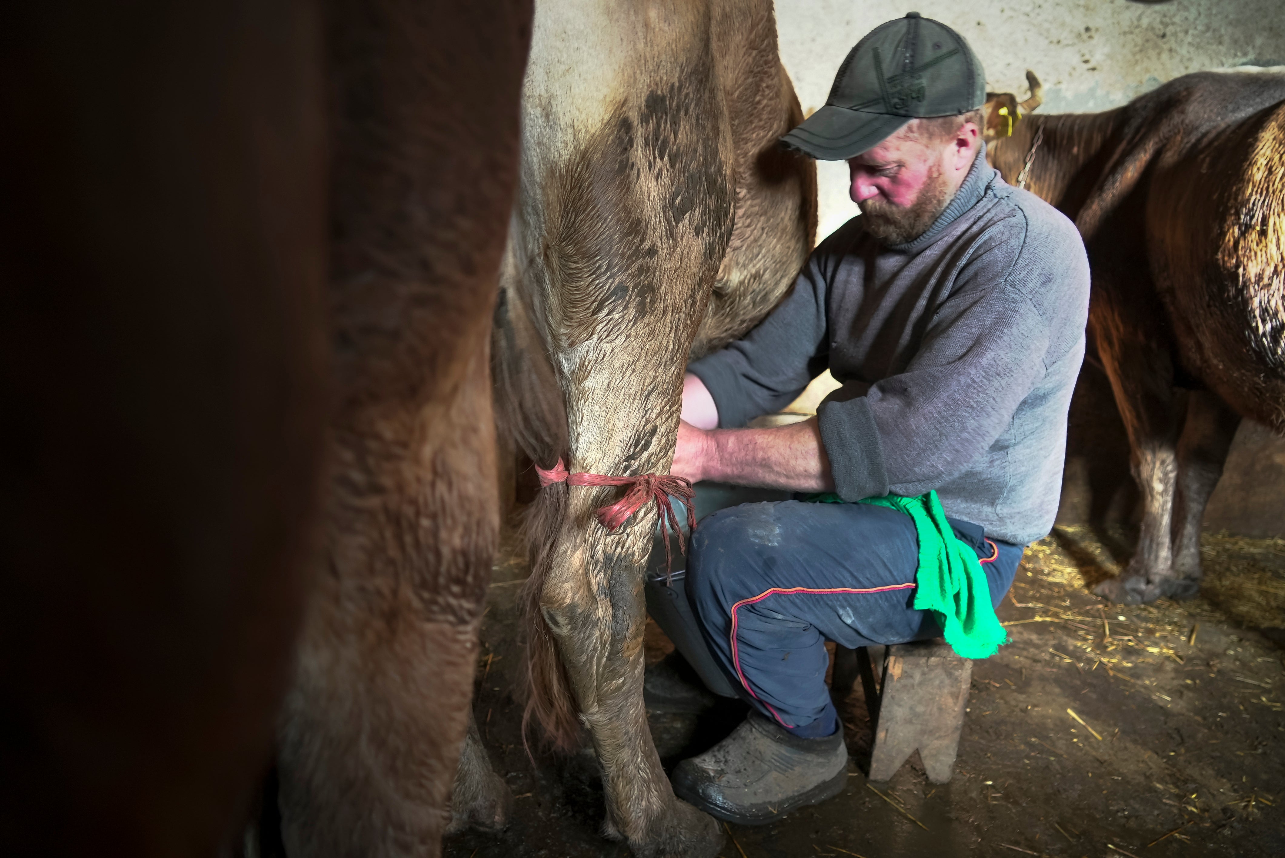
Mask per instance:
[[[983,561],[991,601],[1013,584],[1023,546],[951,519]],[[911,518],[867,503],[743,503],[705,516],[691,537],[686,595],[732,687],[801,736],[838,718],[825,641],[847,647],[941,636],[915,610],[919,538]]]

